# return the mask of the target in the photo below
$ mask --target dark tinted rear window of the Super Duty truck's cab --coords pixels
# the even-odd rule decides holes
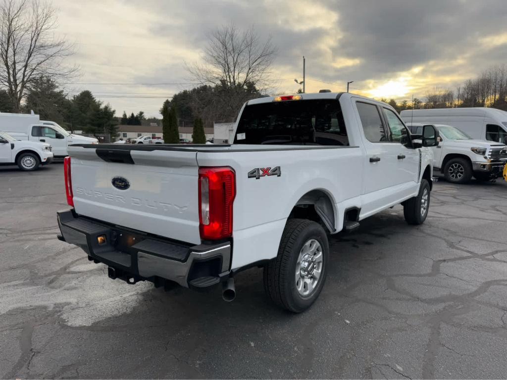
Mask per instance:
[[[287,100],[247,105],[235,144],[348,145],[335,99]]]

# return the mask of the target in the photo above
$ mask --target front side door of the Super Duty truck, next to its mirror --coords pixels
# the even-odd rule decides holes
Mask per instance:
[[[386,107],[382,107],[382,111],[389,131],[389,141],[395,146],[397,182],[415,186],[418,180],[419,151],[412,147],[410,133],[396,113]]]

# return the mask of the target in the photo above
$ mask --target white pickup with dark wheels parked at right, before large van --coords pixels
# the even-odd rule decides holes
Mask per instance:
[[[480,181],[496,178],[507,162],[507,146],[487,140],[474,140],[456,127],[432,124],[442,138],[433,146],[433,168],[452,183],[466,183],[472,175]],[[423,124],[407,124],[412,133],[422,133]]]

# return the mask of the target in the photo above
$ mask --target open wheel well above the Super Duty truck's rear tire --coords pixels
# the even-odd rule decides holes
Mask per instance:
[[[312,190],[302,196],[288,217],[313,220],[323,224],[330,232],[336,231],[333,202],[322,190]]]

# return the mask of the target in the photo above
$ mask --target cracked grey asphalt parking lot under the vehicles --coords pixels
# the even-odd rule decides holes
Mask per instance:
[[[331,238],[315,305],[293,315],[262,272],[164,292],[107,278],[56,239],[63,165],[0,169],[1,378],[504,378],[507,182],[438,182],[426,222],[396,206]]]

